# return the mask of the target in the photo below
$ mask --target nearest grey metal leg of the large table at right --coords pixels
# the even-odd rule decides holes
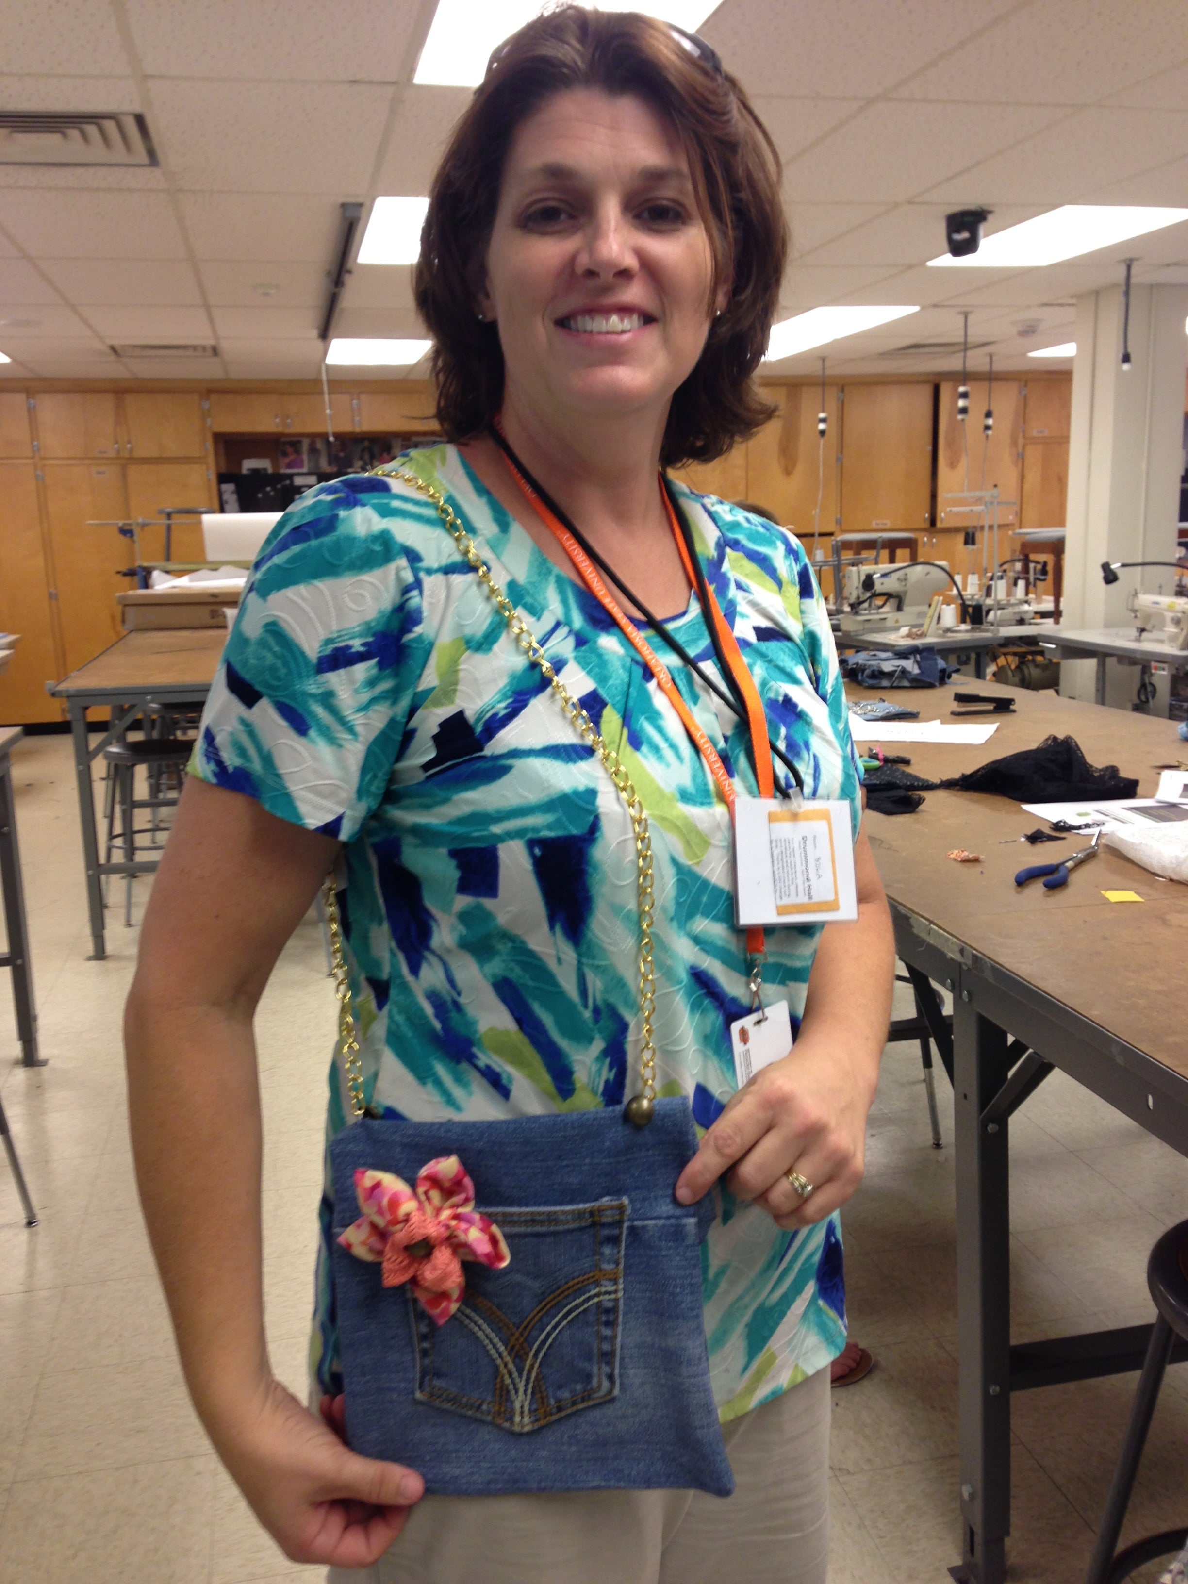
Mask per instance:
[[[963,1584],[1003,1584],[1011,1532],[1007,1123],[982,1114],[1009,1072],[1007,1034],[954,996],[957,1331]]]

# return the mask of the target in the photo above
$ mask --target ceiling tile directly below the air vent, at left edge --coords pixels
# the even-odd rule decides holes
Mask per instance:
[[[169,203],[141,192],[8,192],[0,225],[46,258],[184,258]]]

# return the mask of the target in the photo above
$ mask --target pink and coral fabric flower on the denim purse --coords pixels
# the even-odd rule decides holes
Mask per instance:
[[[393,1172],[360,1169],[363,1215],[339,1237],[356,1259],[383,1266],[383,1285],[412,1281],[417,1302],[444,1326],[463,1302],[463,1259],[502,1270],[512,1255],[504,1234],[474,1207],[474,1183],[456,1155],[429,1161],[415,1191]]]

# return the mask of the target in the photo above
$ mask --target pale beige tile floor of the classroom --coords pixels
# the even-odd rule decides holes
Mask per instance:
[[[51,1064],[16,1064],[0,1004],[0,1096],[41,1213],[25,1229],[0,1161],[0,1579],[320,1578],[288,1563],[258,1529],[181,1383],[124,1115],[120,1006],[136,930],[112,908],[109,957],[86,960],[67,738],[17,748],[14,782]],[[135,917],[147,884],[138,882]],[[295,1388],[304,1375],[333,1022],[310,919],[258,1019],[268,1326],[277,1370]],[[952,1139],[946,1090],[941,1079]],[[1188,1163],[1060,1074],[1012,1123],[1011,1147],[1015,1337],[1148,1319],[1147,1250],[1188,1215]],[[928,1144],[919,1057],[892,1047],[871,1112],[866,1183],[846,1213],[852,1334],[874,1350],[878,1369],[833,1396],[830,1584],[944,1584],[960,1554],[952,1202],[952,1152]],[[1118,1376],[1015,1399],[1012,1579],[1083,1578],[1133,1384]],[[1188,1524],[1183,1365],[1167,1376],[1128,1535],[1175,1524]]]

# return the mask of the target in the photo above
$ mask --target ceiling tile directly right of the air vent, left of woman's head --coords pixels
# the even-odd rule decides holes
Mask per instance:
[[[158,154],[182,190],[361,198],[391,89],[374,84],[158,81]]]

